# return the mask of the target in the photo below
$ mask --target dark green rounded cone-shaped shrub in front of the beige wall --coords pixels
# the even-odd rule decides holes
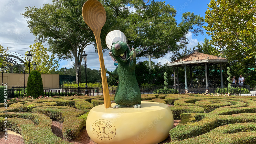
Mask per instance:
[[[38,98],[44,95],[43,81],[38,71],[31,71],[28,76],[27,96]]]

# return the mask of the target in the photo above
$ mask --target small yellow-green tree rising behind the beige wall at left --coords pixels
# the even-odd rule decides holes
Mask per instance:
[[[55,59],[54,54],[51,56],[47,54],[47,48],[44,48],[41,42],[36,42],[34,45],[29,46],[30,53],[33,54],[30,65],[33,69],[33,63],[36,62],[36,70],[42,74],[49,74],[51,71],[55,71],[59,68],[58,61]],[[28,51],[25,55],[28,54]],[[26,65],[27,57],[25,57]]]

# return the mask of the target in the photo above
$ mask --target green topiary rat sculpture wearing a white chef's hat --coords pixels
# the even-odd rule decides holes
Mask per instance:
[[[135,77],[136,50],[130,49],[126,44],[126,37],[120,30],[109,32],[106,36],[106,44],[110,49],[109,55],[113,61],[118,61],[118,67],[106,73],[118,77],[118,86],[115,92],[115,105],[113,108],[141,107],[141,92]],[[132,54],[132,57],[130,56]],[[130,60],[129,60],[130,59]],[[132,60],[131,60],[132,59]]]

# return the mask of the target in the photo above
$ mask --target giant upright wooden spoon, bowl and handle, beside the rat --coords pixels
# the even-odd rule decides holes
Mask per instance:
[[[100,68],[101,68],[101,80],[103,87],[104,105],[105,108],[111,107],[109,88],[106,77],[105,65],[103,60],[100,32],[106,22],[106,11],[102,4],[97,0],[88,0],[84,3],[82,8],[83,20],[92,29],[96,39]]]

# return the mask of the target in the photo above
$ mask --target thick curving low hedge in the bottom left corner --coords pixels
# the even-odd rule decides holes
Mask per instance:
[[[4,113],[0,113],[0,117],[0,126],[6,126]],[[26,144],[71,144],[52,133],[51,119],[42,114],[8,113],[7,127],[21,134]]]

